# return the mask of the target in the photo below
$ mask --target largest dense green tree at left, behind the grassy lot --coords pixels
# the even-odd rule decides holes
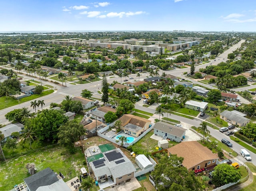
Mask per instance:
[[[38,140],[56,140],[60,125],[65,124],[68,117],[55,109],[44,109],[30,120],[29,127],[36,133]]]

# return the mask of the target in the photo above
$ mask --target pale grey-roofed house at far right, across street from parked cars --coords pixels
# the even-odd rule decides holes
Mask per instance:
[[[250,119],[228,110],[221,112],[220,119],[239,126],[246,126],[250,122]]]

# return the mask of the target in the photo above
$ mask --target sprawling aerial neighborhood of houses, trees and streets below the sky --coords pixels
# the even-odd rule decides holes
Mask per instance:
[[[0,37],[0,191],[252,190],[255,33]]]

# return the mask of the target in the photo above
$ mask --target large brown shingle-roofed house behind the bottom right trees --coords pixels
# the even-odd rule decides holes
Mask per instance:
[[[167,151],[168,156],[176,154],[178,157],[184,158],[182,165],[188,171],[214,166],[219,158],[217,154],[213,154],[211,150],[202,146],[197,141],[181,142],[168,148]]]

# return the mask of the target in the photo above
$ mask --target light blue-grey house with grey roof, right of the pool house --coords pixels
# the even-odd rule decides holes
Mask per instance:
[[[164,140],[180,142],[185,138],[186,129],[159,121],[154,125],[154,134],[162,137]]]

